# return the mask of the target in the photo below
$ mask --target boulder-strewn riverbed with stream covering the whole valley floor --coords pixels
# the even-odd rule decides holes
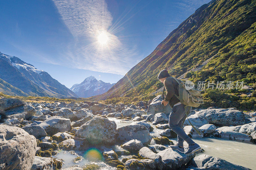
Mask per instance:
[[[0,169],[256,167],[256,114],[236,108],[192,110],[189,120],[202,135],[187,120],[184,130],[203,150],[190,155],[170,148],[177,135],[159,96],[136,105],[1,98],[0,110]]]

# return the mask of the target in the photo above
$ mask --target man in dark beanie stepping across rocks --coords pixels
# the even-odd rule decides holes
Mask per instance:
[[[167,70],[162,70],[158,74],[158,80],[164,83],[166,89],[166,96],[162,101],[162,104],[166,106],[168,103],[172,107],[171,114],[169,116],[169,127],[178,135],[178,145],[171,146],[172,149],[177,150],[181,153],[184,153],[183,142],[184,140],[188,143],[188,150],[185,154],[191,154],[201,149],[201,147],[196,144],[183,130],[183,123],[188,114],[191,111],[191,107],[180,103],[180,100],[174,95],[179,96],[178,92],[178,83],[175,81]]]

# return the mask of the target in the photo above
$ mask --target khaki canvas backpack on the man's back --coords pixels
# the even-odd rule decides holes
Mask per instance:
[[[200,106],[200,104],[204,104],[204,100],[201,94],[202,90],[195,89],[195,87],[187,90],[183,81],[181,81],[180,79],[176,79],[174,77],[171,77],[171,78],[173,78],[179,84],[178,85],[179,96],[177,96],[176,94],[174,95],[180,100],[180,103],[186,106],[191,106],[191,107],[198,107]]]

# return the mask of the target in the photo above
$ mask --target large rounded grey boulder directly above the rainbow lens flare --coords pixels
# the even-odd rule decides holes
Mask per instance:
[[[76,137],[92,144],[115,143],[116,123],[104,117],[93,117],[76,131]]]

